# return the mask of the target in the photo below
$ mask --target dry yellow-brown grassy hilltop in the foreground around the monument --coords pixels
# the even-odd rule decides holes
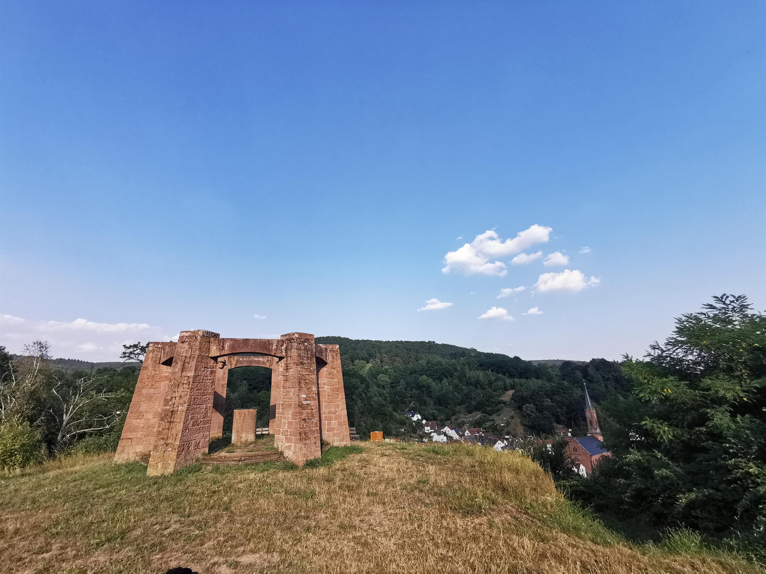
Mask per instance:
[[[332,465],[149,478],[105,455],[0,479],[10,572],[755,572],[630,548],[516,452],[362,443]]]

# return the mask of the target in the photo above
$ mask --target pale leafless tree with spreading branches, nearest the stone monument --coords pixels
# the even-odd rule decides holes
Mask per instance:
[[[108,393],[100,389],[98,377],[82,377],[75,380],[74,384],[56,378],[51,393],[57,400],[57,406],[48,409],[59,427],[56,452],[62,452],[70,440],[80,435],[110,429],[120,419],[119,411],[106,415],[93,411],[96,403],[119,396],[119,393]]]

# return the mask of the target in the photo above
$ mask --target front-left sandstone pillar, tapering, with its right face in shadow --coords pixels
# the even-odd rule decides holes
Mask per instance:
[[[181,331],[162,400],[157,438],[147,475],[169,475],[208,452],[216,362],[211,331]]]

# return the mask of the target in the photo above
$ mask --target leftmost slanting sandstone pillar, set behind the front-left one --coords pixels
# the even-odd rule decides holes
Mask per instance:
[[[149,343],[114,455],[115,462],[136,461],[152,454],[162,410],[162,386],[168,383],[171,372],[169,365],[162,364],[163,355],[172,356],[174,347],[175,343]]]

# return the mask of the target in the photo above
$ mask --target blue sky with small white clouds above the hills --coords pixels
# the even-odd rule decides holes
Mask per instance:
[[[6,0],[0,344],[616,359],[710,295],[763,309],[764,24],[763,2]]]

